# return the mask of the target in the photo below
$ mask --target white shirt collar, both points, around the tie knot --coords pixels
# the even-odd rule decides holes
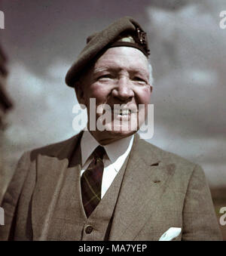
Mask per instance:
[[[116,140],[115,142],[103,146],[116,171],[121,169],[125,159],[129,155],[133,145],[133,138],[134,135],[131,135],[129,137],[124,137],[121,140]],[[90,131],[84,131],[81,137],[82,166],[84,166],[85,162],[87,162],[87,159],[99,145],[99,142],[93,137],[92,134],[90,134]]]

